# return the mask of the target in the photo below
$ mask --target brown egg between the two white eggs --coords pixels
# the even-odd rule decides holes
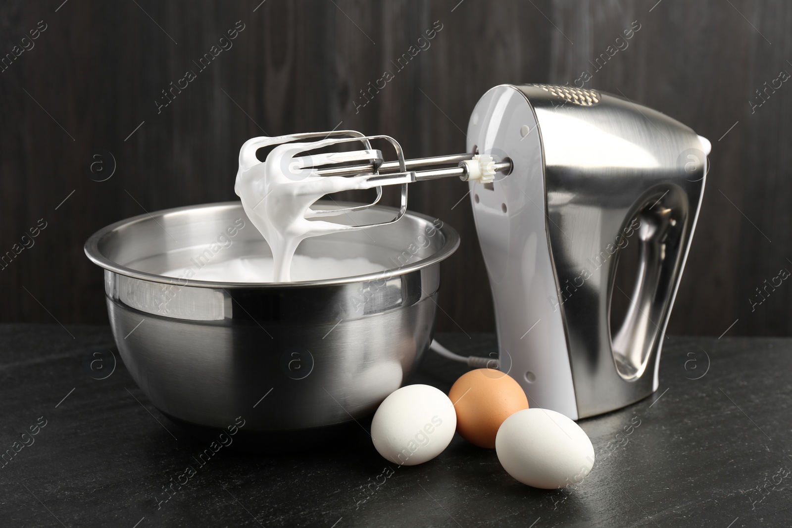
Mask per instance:
[[[528,408],[523,388],[514,378],[494,369],[463,374],[451,387],[456,409],[456,431],[463,439],[493,449],[497,430],[509,416]]]

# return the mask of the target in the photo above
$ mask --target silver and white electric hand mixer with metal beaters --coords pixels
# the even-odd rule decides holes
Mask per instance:
[[[333,131],[250,140],[241,170],[243,162],[258,163],[261,146],[307,139],[314,142],[284,158],[290,173],[364,177],[377,192],[360,207],[307,207],[307,218],[349,215],[377,203],[383,185],[401,185],[396,222],[406,211],[407,184],[468,182],[495,304],[499,368],[520,382],[531,406],[577,420],[657,389],[664,332],[703,196],[706,139],[608,93],[499,85],[470,116],[468,154],[406,160],[388,136]],[[398,159],[385,161],[371,148],[375,139],[390,142]],[[341,142],[364,148],[298,155]],[[364,227],[352,221],[339,230]],[[614,293],[620,249],[630,242],[639,248],[638,276],[632,292]],[[630,308],[611,332],[615,294],[628,296]]]

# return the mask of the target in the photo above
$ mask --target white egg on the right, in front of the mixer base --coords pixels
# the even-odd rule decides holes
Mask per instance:
[[[495,450],[509,475],[535,488],[577,484],[594,465],[594,446],[585,431],[545,408],[509,416],[497,431]]]

